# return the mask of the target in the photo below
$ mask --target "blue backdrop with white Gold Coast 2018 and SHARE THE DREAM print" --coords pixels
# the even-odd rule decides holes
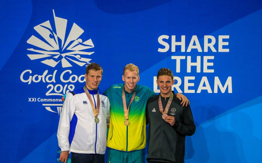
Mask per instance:
[[[104,69],[101,90],[122,83],[128,63],[156,93],[157,71],[173,71],[196,124],[185,162],[262,162],[261,0],[0,4],[6,162],[57,162],[62,95],[91,62]]]

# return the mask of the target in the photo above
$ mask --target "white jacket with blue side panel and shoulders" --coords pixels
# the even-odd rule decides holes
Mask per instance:
[[[98,90],[88,91],[96,107]],[[95,123],[92,106],[83,88],[66,95],[57,130],[58,145],[62,151],[105,154],[110,102],[100,92],[99,97],[99,123]]]

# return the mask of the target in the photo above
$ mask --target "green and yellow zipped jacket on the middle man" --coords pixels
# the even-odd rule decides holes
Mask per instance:
[[[107,95],[111,104],[111,116],[107,147],[119,151],[130,152],[140,150],[146,146],[146,102],[155,93],[146,86],[137,85],[136,95],[129,107],[128,126],[124,125],[124,108],[122,100],[122,89],[124,84],[114,84],[104,94]],[[125,91],[127,107],[129,106],[133,92]]]

